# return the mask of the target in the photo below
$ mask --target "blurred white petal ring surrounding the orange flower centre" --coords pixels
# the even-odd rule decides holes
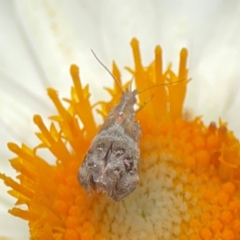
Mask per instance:
[[[219,117],[240,137],[240,3],[238,1],[1,1],[0,2],[0,169],[14,172],[7,142],[33,146],[32,115],[52,115],[47,87],[68,95],[69,66],[80,66],[91,85],[92,101],[107,94],[112,82],[91,53],[110,68],[132,64],[129,42],[141,42],[144,61],[160,44],[165,66],[178,64],[182,47],[189,50],[186,108],[206,123]],[[126,75],[123,79],[127,78]],[[27,239],[27,223],[7,213],[13,199],[1,184],[0,238]]]

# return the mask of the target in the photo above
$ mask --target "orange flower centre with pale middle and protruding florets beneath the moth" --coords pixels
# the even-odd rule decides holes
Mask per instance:
[[[49,127],[41,116],[34,116],[40,143],[34,148],[8,144],[17,155],[10,163],[19,172],[18,181],[0,174],[12,188],[9,194],[17,199],[9,212],[29,222],[32,239],[238,239],[239,141],[221,121],[205,126],[200,117],[191,119],[184,114],[186,49],[180,53],[176,75],[170,66],[163,71],[159,46],[146,68],[138,41],[133,39],[131,46],[135,69],[127,70],[137,89],[171,83],[139,94],[143,105],[146,95],[155,93],[137,115],[142,128],[137,190],[116,203],[95,192],[89,197],[79,186],[78,168],[98,127],[88,85],[82,87],[78,68],[72,65],[74,86],[71,97],[64,99],[68,105],[49,88],[58,114],[50,117]],[[113,75],[121,83],[115,63]],[[107,90],[112,99],[99,102],[103,118],[121,95],[116,84]],[[41,148],[55,156],[55,164],[39,156]],[[21,205],[27,209],[18,207]]]

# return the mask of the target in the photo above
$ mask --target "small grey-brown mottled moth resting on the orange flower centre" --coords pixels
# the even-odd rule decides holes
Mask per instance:
[[[88,194],[92,188],[120,201],[138,185],[141,129],[134,110],[137,94],[131,87],[123,92],[91,143],[78,172],[78,181]]]

